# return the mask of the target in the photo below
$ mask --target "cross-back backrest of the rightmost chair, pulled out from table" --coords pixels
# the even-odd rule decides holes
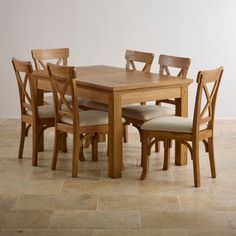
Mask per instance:
[[[208,129],[214,125],[215,105],[223,67],[199,71],[197,75],[197,94],[193,117],[193,131],[198,132],[202,124]]]

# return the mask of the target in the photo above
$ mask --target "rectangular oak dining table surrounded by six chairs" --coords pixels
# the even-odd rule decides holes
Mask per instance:
[[[43,102],[42,91],[52,91],[47,71],[35,70],[31,74],[37,79],[38,102]],[[110,65],[76,67],[78,96],[108,105],[108,176],[122,176],[123,125],[122,106],[133,103],[175,99],[175,115],[188,116],[188,87],[193,82],[189,78],[159,75],[142,71],[130,71]],[[141,157],[140,157],[141,158]],[[183,144],[175,144],[175,164],[187,164],[187,149]]]

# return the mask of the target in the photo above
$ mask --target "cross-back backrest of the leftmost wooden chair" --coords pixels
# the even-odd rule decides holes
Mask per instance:
[[[36,109],[36,83],[30,79],[33,71],[30,61],[20,61],[12,58],[12,65],[15,71],[19,96],[21,114],[26,114],[27,110],[31,110],[35,114]]]

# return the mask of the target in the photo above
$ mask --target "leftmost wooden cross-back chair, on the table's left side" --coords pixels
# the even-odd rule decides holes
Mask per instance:
[[[17,79],[21,108],[21,138],[18,158],[22,158],[25,137],[28,135],[29,127],[32,126],[32,165],[37,166],[40,137],[42,137],[40,134],[46,128],[54,126],[54,108],[51,105],[37,105],[37,82],[30,79],[33,71],[31,62],[13,58],[12,64]]]

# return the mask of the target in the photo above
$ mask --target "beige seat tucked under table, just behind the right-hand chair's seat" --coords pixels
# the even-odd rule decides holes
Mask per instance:
[[[129,105],[122,108],[122,115],[124,117],[142,121],[174,114],[174,110],[158,105]]]

